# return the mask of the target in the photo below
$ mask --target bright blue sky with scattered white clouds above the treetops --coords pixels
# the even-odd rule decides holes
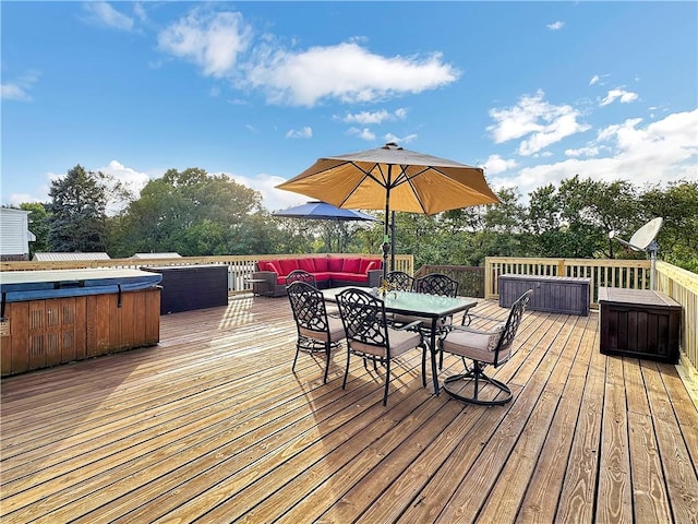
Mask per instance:
[[[698,179],[698,2],[0,4],[2,204],[81,164],[225,172],[269,211],[388,141],[526,196]]]

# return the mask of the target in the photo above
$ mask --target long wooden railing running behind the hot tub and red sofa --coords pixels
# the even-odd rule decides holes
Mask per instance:
[[[163,267],[176,265],[225,264],[228,266],[228,293],[231,295],[250,290],[248,279],[254,272],[254,263],[258,260],[297,259],[300,254],[240,254],[220,257],[181,257],[174,259],[109,259],[80,261],[20,261],[0,262],[0,271],[33,271],[33,270],[80,270],[96,267],[140,269]],[[366,253],[315,253],[302,257],[369,257]],[[378,258],[377,254],[371,257]],[[414,259],[411,254],[396,254],[396,270],[410,275],[414,272]],[[389,263],[389,262],[388,262]]]

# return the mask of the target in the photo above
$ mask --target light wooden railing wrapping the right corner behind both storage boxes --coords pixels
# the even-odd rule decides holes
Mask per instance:
[[[579,276],[590,278],[589,303],[598,308],[599,287],[631,289],[650,288],[651,264],[649,260],[603,259],[518,259],[488,257],[485,259],[485,298],[498,298],[498,276],[505,273],[546,276]],[[657,290],[683,306],[682,364],[698,383],[698,275],[666,262],[657,262]]]

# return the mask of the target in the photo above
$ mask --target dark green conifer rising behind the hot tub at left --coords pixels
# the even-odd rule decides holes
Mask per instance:
[[[109,177],[77,165],[51,182],[48,243],[58,252],[105,251]]]

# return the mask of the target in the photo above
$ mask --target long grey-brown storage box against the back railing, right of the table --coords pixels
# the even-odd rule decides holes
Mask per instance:
[[[533,289],[528,309],[552,313],[589,314],[589,278],[542,275],[500,275],[500,307],[510,308],[527,290]]]

